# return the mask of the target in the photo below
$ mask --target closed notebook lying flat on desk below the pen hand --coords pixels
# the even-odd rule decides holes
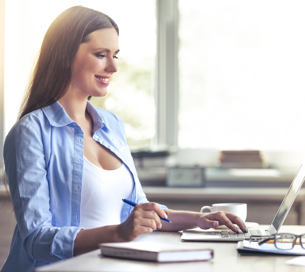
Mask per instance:
[[[152,262],[206,261],[213,258],[213,250],[203,245],[132,241],[99,244],[101,254],[107,257]]]

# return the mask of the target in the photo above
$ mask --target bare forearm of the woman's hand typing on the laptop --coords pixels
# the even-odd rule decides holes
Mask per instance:
[[[168,219],[172,223],[162,221],[161,230],[179,231],[198,227],[198,219],[202,213],[184,210],[168,210]]]

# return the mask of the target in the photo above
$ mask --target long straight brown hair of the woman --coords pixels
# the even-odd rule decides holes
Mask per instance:
[[[60,99],[69,87],[80,43],[88,42],[95,30],[111,27],[118,34],[116,23],[94,9],[74,6],[62,12],[45,34],[19,119]]]

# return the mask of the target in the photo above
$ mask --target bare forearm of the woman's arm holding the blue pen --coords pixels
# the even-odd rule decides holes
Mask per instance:
[[[74,256],[98,249],[99,243],[123,241],[118,225],[80,230],[74,241]]]

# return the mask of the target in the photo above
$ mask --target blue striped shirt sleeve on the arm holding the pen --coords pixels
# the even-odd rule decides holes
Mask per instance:
[[[29,256],[53,262],[73,256],[77,227],[52,222],[46,149],[41,124],[35,116],[18,122],[4,144],[5,170],[23,247]],[[64,207],[58,207],[64,209]]]

